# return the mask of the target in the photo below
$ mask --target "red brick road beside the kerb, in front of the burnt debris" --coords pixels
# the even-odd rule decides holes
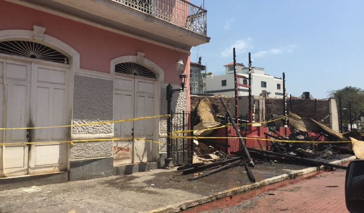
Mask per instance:
[[[185,213],[348,213],[345,170],[309,175],[216,200]]]

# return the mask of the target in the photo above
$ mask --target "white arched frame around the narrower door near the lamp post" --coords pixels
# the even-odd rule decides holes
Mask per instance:
[[[114,93],[115,93],[115,65],[118,63],[125,63],[125,62],[132,62],[132,63],[138,63],[142,66],[147,67],[150,71],[152,71],[156,76],[156,84],[155,84],[155,91],[156,95],[154,96],[154,113],[155,115],[161,114],[161,82],[164,82],[164,75],[165,72],[162,68],[160,68],[156,63],[153,61],[150,61],[149,59],[144,58],[144,53],[138,52],[137,56],[120,56],[116,59],[113,59],[110,61],[110,73],[113,76],[114,79]],[[123,76],[123,74],[117,73],[117,76]],[[130,75],[124,75],[129,76]],[[137,77],[137,76],[134,76]],[[140,77],[140,76],[139,76]],[[150,79],[149,79],[150,80]],[[114,99],[114,95],[113,95]],[[113,106],[114,106],[114,100],[113,100]],[[154,141],[159,142],[159,132],[160,132],[160,119],[154,119],[154,125],[156,128],[154,128]],[[113,126],[114,129],[114,126]],[[159,146],[158,146],[159,147]],[[152,150],[153,152],[153,150]],[[152,153],[152,159],[151,161],[157,161],[159,154],[159,148],[154,150],[154,153]],[[153,158],[155,156],[155,158]]]

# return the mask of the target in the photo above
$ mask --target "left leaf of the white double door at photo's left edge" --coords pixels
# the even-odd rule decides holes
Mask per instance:
[[[1,60],[1,127],[28,127],[30,122],[30,92],[31,92],[31,63],[6,59],[6,101],[3,102],[4,60]],[[6,107],[5,109],[3,107]],[[3,116],[3,109],[6,110]],[[5,134],[5,137],[3,136]],[[0,131],[1,141],[7,143],[27,142],[27,130]],[[2,146],[1,166],[4,166],[3,176],[19,176],[28,174],[29,146],[12,144]],[[3,161],[4,160],[4,161]]]

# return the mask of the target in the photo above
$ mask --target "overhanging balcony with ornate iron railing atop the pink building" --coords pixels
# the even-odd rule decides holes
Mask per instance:
[[[210,41],[206,29],[207,11],[186,0],[20,1],[186,51]]]

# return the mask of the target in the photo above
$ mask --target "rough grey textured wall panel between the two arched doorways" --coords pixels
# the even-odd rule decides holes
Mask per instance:
[[[114,82],[112,80],[75,75],[73,94],[73,124],[113,120]],[[72,127],[72,137],[113,134],[113,124]],[[74,143],[70,158],[94,158],[112,155],[113,142]]]

